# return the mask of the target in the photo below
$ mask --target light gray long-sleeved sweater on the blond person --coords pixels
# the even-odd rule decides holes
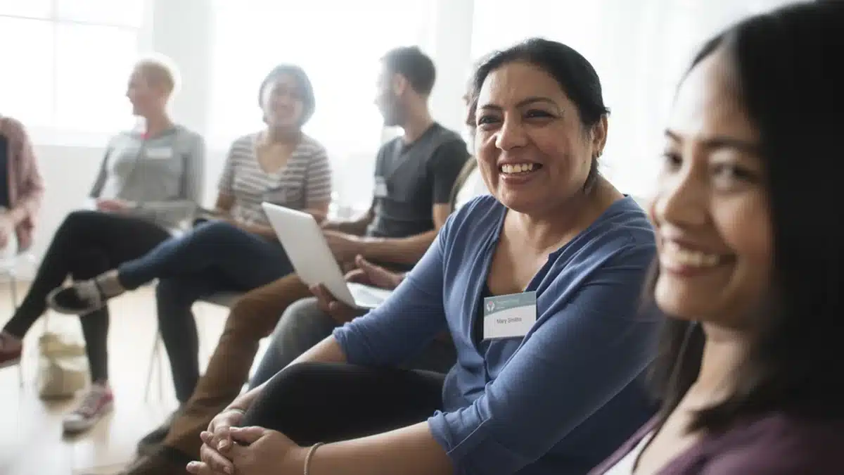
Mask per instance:
[[[91,198],[125,199],[133,216],[182,227],[203,197],[205,143],[181,125],[146,139],[124,132],[109,141]]]

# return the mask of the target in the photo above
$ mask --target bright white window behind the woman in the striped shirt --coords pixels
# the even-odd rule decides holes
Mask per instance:
[[[306,132],[333,158],[370,154],[382,119],[373,104],[378,59],[419,42],[426,0],[217,0],[211,137],[217,145],[263,126],[258,87],[279,63],[304,68],[317,109]],[[427,7],[427,8],[426,8]]]

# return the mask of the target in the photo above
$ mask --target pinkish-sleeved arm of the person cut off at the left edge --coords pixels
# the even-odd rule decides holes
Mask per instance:
[[[41,201],[44,198],[44,180],[41,171],[38,169],[38,161],[35,159],[35,152],[32,150],[30,136],[22,123],[16,120],[3,119],[4,130],[12,143],[12,157],[17,160],[17,172],[22,174],[21,179],[14,177],[20,183],[18,199],[14,208],[9,210],[8,216],[14,227],[34,227],[35,217],[41,209]],[[19,243],[20,249],[25,249],[31,243]]]

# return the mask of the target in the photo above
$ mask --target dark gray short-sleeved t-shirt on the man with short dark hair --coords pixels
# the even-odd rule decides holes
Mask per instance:
[[[460,135],[438,123],[411,144],[399,137],[381,146],[375,167],[375,219],[367,235],[407,238],[434,229],[434,205],[451,202],[469,157]]]

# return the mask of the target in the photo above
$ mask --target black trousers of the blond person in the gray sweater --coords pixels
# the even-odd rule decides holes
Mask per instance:
[[[46,310],[46,296],[68,276],[90,279],[123,262],[136,259],[170,238],[152,222],[100,211],[74,211],[58,228],[29,292],[4,330],[23,337]],[[108,308],[82,317],[91,379],[108,379]]]

